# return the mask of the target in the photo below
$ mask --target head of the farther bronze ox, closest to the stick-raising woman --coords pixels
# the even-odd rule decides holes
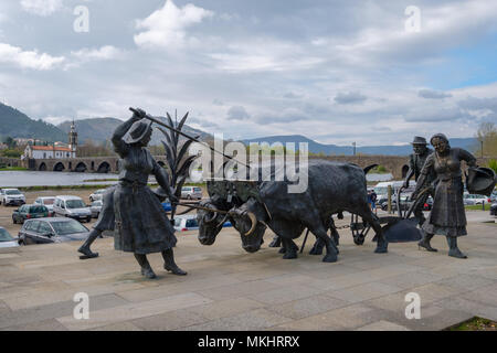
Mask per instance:
[[[216,212],[219,207],[212,202],[212,200],[203,200],[199,205],[202,207],[212,208],[212,212],[205,210],[197,211],[197,221],[199,222],[199,242],[202,245],[212,245],[215,242],[215,237],[223,228],[223,224],[226,221],[226,215]]]

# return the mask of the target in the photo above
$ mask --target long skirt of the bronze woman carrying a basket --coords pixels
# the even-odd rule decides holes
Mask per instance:
[[[438,182],[432,212],[423,224],[426,233],[448,236],[467,235],[463,192],[461,176]]]

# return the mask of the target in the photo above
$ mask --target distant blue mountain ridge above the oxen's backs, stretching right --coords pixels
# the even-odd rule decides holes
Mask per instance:
[[[302,135],[289,135],[289,136],[267,136],[260,137],[255,139],[242,140],[243,143],[250,145],[253,142],[267,142],[269,145],[274,142],[282,142],[285,145],[286,142],[295,142],[296,149],[298,149],[299,142],[307,142],[309,146],[309,152],[313,153],[325,153],[325,154],[345,154],[351,156],[353,154],[353,148],[351,146],[337,146],[337,145],[324,145],[316,142],[305,136]],[[455,138],[450,139],[452,147],[461,147],[467,150],[472,150],[477,141],[475,138]],[[401,146],[362,146],[356,148],[357,153],[363,154],[385,154],[385,156],[406,156],[412,153],[411,145],[401,145]]]

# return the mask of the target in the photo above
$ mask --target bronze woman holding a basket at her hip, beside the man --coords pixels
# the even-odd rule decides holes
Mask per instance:
[[[448,256],[466,258],[457,247],[457,237],[467,235],[461,161],[466,161],[469,168],[476,168],[476,158],[464,149],[451,148],[443,133],[434,135],[430,142],[435,148],[435,153],[430,154],[423,165],[414,196],[420,193],[431,172],[436,173],[435,196],[433,208],[422,226],[424,237],[419,245],[429,252],[436,252],[430,240],[435,234],[445,235]]]

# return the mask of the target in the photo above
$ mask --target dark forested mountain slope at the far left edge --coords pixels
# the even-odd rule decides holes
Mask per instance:
[[[36,138],[46,141],[66,141],[67,135],[42,120],[33,120],[24,113],[0,103],[0,135],[12,138]]]

